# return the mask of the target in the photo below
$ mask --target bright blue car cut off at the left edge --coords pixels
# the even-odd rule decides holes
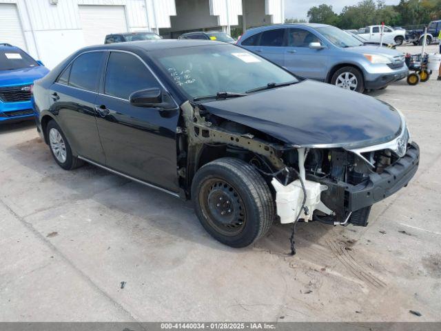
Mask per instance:
[[[34,117],[32,86],[48,72],[20,48],[0,43],[0,123]]]

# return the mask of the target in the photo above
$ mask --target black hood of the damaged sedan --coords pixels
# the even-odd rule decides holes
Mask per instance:
[[[402,123],[387,103],[309,80],[202,105],[218,117],[304,147],[358,148],[391,141]]]

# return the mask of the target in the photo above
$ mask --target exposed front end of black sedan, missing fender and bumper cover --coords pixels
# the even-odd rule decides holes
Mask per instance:
[[[183,186],[191,187],[204,163],[239,157],[266,179],[281,223],[366,226],[371,205],[407,185],[418,169],[418,145],[411,143],[405,123],[387,144],[358,149],[296,146],[212,114],[203,105],[186,102],[181,109],[178,172]]]

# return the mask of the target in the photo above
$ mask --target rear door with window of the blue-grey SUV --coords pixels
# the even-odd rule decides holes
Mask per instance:
[[[285,28],[278,28],[263,31],[260,35],[258,46],[248,49],[265,57],[265,59],[269,59],[269,61],[277,63],[279,66],[283,66],[286,50],[286,30]]]

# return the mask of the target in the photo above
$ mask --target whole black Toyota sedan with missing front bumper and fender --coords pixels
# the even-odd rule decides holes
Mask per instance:
[[[419,163],[392,106],[227,43],[83,48],[33,93],[61,168],[86,161],[192,199],[207,232],[235,248],[275,220],[366,226]]]

